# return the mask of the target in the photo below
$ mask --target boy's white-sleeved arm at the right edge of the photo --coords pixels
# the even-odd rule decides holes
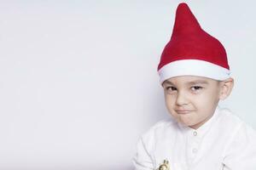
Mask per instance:
[[[256,169],[256,131],[242,123],[224,153],[224,170]]]

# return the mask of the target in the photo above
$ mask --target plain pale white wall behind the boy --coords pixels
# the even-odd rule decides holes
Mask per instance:
[[[256,3],[185,2],[227,50],[221,105],[256,127]],[[156,69],[178,3],[0,1],[0,169],[131,169],[168,117]]]

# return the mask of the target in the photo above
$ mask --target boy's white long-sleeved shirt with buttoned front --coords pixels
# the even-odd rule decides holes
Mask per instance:
[[[256,132],[227,109],[217,107],[198,129],[172,119],[143,133],[133,157],[136,170],[256,170]]]

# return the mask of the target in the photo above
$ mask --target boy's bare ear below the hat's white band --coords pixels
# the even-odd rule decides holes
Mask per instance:
[[[231,77],[220,82],[219,99],[226,99],[230,95],[233,87],[234,87],[234,79]]]

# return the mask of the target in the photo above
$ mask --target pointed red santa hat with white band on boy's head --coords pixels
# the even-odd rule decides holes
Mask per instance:
[[[225,80],[230,66],[224,46],[201,29],[186,3],[177,7],[170,42],[164,48],[157,69],[160,83],[178,76]]]

